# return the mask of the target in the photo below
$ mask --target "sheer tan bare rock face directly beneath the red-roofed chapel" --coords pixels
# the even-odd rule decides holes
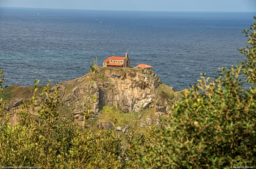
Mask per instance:
[[[125,113],[147,108],[156,97],[155,88],[161,84],[161,80],[150,70],[123,69],[120,72],[113,69],[106,70],[103,76],[108,80],[99,84],[100,106],[114,105]]]

